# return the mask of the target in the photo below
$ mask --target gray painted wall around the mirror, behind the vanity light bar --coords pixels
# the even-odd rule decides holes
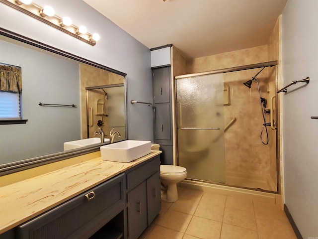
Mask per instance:
[[[99,33],[100,41],[92,47],[4,4],[0,4],[0,27],[127,73],[128,138],[153,140],[152,107],[129,103],[152,100],[150,50],[82,0],[36,3],[51,5],[57,15],[67,15],[88,32]]]

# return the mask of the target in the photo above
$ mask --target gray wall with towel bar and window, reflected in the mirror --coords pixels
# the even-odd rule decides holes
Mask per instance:
[[[0,163],[63,151],[80,138],[79,64],[0,40],[0,62],[22,70],[22,113],[26,124],[0,125]]]

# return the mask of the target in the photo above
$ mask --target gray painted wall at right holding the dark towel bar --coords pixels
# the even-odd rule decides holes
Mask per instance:
[[[289,0],[283,12],[285,204],[303,238],[318,237],[318,1]],[[284,93],[280,93],[284,94]]]

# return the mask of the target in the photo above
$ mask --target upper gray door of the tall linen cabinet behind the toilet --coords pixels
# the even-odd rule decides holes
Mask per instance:
[[[153,69],[154,103],[170,102],[170,67]]]

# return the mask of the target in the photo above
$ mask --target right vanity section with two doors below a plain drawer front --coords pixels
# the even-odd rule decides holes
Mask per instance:
[[[159,156],[127,172],[128,239],[138,239],[161,209]]]

